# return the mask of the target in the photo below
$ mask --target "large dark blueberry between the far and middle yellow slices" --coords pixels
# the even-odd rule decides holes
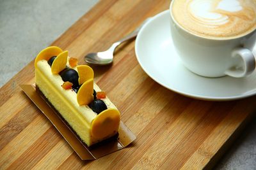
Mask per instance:
[[[78,87],[78,73],[76,70],[74,69],[64,69],[63,71],[61,71],[60,76],[62,78],[63,81],[69,81],[71,83],[73,83],[72,87]]]

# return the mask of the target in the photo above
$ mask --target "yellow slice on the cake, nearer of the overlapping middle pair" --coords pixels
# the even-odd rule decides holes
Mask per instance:
[[[77,92],[77,103],[88,105],[93,101],[93,78],[85,81]]]

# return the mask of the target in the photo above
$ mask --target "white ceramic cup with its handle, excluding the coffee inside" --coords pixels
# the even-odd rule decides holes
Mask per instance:
[[[184,66],[200,76],[244,77],[255,70],[256,30],[234,39],[211,39],[191,34],[172,15],[173,43]],[[253,51],[254,48],[254,51]],[[254,54],[254,55],[253,55]]]

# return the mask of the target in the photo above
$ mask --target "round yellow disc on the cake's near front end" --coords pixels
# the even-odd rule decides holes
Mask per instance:
[[[106,138],[118,132],[120,124],[120,112],[109,108],[102,111],[92,122],[92,136],[94,138]]]

